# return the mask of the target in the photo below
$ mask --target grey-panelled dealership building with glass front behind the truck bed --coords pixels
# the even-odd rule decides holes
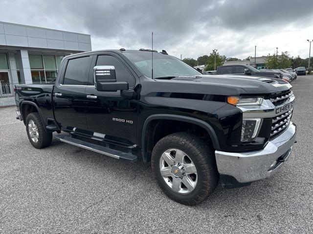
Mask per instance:
[[[90,50],[87,34],[0,21],[0,98],[15,84],[54,80],[64,56]]]

